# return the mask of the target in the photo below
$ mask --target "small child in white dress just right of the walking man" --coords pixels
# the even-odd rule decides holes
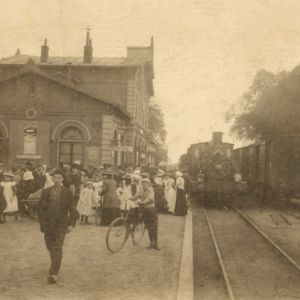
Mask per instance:
[[[93,215],[93,203],[96,193],[93,189],[93,183],[88,181],[81,190],[80,198],[77,204],[77,210],[80,214],[80,224],[91,224],[88,222],[89,216]]]

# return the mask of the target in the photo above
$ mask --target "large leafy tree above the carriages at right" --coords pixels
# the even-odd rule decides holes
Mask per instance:
[[[267,139],[300,132],[300,67],[292,72],[257,72],[238,109],[230,109],[227,121],[238,138]]]

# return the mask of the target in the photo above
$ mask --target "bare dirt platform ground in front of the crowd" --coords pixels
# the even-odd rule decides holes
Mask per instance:
[[[49,254],[38,224],[8,218],[0,225],[0,299],[175,299],[183,217],[159,215],[161,251],[130,240],[116,254],[105,246],[107,227],[77,225],[66,236],[59,282],[47,285]]]

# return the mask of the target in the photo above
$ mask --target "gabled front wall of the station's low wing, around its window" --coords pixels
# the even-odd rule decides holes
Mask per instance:
[[[86,167],[109,162],[114,117],[122,119],[110,105],[33,73],[2,82],[0,128],[8,132],[4,163],[11,165],[31,157],[57,165],[59,137],[68,126],[75,126],[84,134]],[[122,122],[127,124],[126,120]],[[37,129],[36,153],[24,156],[24,126],[28,124]]]

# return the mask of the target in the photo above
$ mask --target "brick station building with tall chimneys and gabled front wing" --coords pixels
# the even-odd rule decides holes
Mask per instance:
[[[153,39],[149,47],[128,47],[124,58],[98,58],[87,32],[83,52],[51,57],[45,40],[40,57],[17,51],[0,60],[3,165],[153,162],[147,140]]]

